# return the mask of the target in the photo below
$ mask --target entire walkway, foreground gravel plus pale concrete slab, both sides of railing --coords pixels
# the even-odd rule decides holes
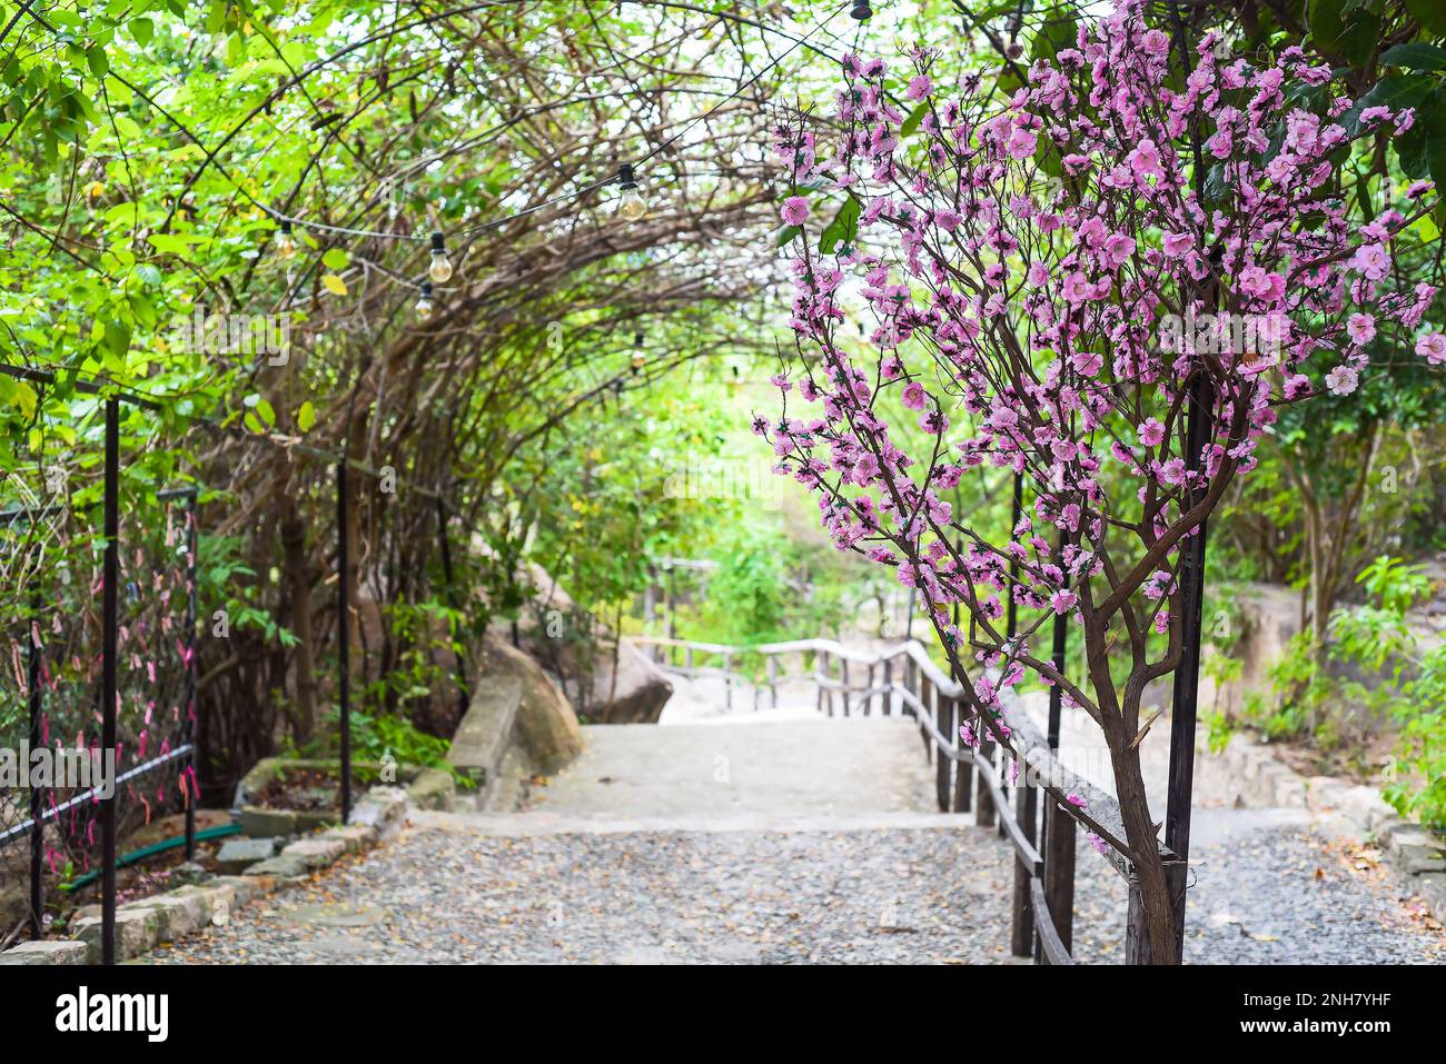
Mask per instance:
[[[147,960],[1017,963],[1012,851],[936,811],[911,723],[785,708],[587,733],[529,811],[414,814],[380,849]],[[1229,808],[1219,782],[1203,772],[1197,791],[1189,961],[1446,960],[1391,873],[1322,843],[1309,814]],[[1076,866],[1074,954],[1118,964],[1124,882],[1083,841]]]

